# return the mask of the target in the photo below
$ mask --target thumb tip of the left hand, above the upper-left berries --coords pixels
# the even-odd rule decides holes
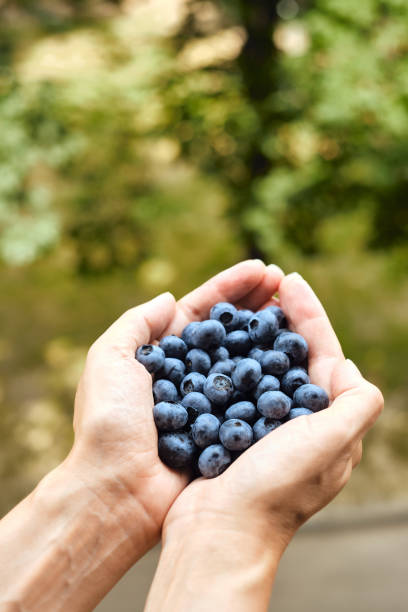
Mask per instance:
[[[162,293],[149,302],[127,310],[95,342],[101,346],[133,354],[138,346],[159,338],[174,317],[176,301]]]

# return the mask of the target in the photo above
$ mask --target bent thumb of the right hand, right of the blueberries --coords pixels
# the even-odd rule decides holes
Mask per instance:
[[[339,363],[333,371],[332,405],[319,412],[322,427],[330,427],[333,435],[342,433],[346,444],[358,443],[374,425],[384,407],[381,391],[365,380],[350,359]]]

